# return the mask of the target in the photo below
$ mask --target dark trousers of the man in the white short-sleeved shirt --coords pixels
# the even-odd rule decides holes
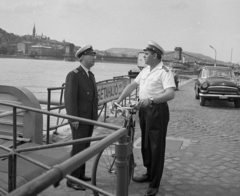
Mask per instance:
[[[163,174],[166,134],[169,122],[167,103],[153,104],[139,110],[142,132],[143,165],[150,177],[150,188],[158,188]]]

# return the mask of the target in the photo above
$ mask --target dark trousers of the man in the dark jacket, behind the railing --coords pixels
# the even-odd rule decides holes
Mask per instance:
[[[93,133],[93,127],[94,127],[93,125],[86,125],[86,124],[79,123],[78,128],[75,129],[71,125],[72,139],[75,140],[75,139],[81,139],[85,137],[91,137]],[[83,151],[85,148],[88,148],[89,146],[90,146],[90,142],[74,144],[72,146],[71,156],[74,156],[75,154]],[[86,164],[84,163],[79,168],[74,170],[71,173],[71,175],[74,176],[75,178],[80,179],[82,176],[85,175],[85,168],[86,168]]]

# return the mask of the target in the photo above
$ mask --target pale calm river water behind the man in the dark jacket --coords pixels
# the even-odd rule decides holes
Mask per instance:
[[[37,99],[47,99],[47,88],[60,87],[68,72],[77,68],[79,62],[0,58],[0,85],[21,86],[30,90]],[[91,71],[96,81],[127,75],[138,70],[136,64],[95,63]],[[53,93],[59,100],[59,91]]]

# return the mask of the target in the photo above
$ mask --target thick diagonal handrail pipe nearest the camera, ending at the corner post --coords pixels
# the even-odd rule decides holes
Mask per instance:
[[[97,153],[105,149],[107,146],[112,144],[116,139],[120,139],[124,135],[126,137],[126,132],[127,132],[126,128],[119,129],[118,131],[104,138],[95,145],[90,146],[84,151],[81,151],[80,153],[71,157],[71,159],[68,159],[59,165],[55,165],[52,169],[50,169],[46,173],[19,187],[17,190],[12,191],[9,194],[9,196],[31,196],[40,193],[41,191],[45,190],[52,184],[61,181],[64,177],[66,177],[67,174],[71,173],[76,168],[78,168],[79,165],[82,165],[87,160],[95,156]],[[122,180],[121,177],[125,178],[125,175],[120,176],[119,179],[120,181]]]

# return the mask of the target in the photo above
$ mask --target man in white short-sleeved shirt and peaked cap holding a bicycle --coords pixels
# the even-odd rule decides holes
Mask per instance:
[[[174,98],[172,72],[163,65],[164,50],[154,41],[149,41],[145,51],[146,67],[129,84],[118,100],[120,103],[139,86],[139,121],[142,132],[142,157],[146,174],[135,177],[138,183],[149,182],[145,196],[155,196],[162,178],[169,109],[167,101]]]

